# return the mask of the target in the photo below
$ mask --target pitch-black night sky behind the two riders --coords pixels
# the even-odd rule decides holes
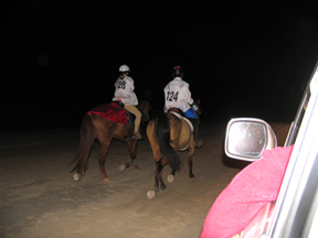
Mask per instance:
[[[155,109],[181,65],[202,120],[292,121],[318,55],[311,2],[11,2],[2,9],[0,130],[80,127],[112,100],[121,64]]]

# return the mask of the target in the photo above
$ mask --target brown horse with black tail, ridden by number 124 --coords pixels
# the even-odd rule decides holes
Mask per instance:
[[[200,100],[197,101],[197,105],[200,106]],[[178,151],[188,149],[189,177],[194,177],[192,173],[194,153],[193,126],[189,119],[176,112],[177,110],[172,109],[167,113],[159,112],[147,126],[147,137],[156,162],[153,191],[147,193],[149,199],[156,196],[159,191],[159,183],[161,191],[167,188],[162,180],[162,170],[168,163],[172,167],[168,182],[173,182],[176,171],[181,169]],[[200,107],[195,113],[199,118],[199,113],[201,113]]]

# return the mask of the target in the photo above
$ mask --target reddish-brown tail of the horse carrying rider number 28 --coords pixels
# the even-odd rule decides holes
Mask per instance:
[[[88,158],[95,140],[96,136],[94,132],[94,126],[91,121],[89,116],[85,115],[81,125],[80,147],[71,164],[73,164],[74,162],[76,163],[71,173],[75,170],[81,170],[83,173],[85,173],[88,170]]]

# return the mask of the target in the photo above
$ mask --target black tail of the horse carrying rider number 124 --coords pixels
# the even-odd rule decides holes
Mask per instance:
[[[170,122],[167,115],[163,112],[158,112],[156,118],[155,134],[157,142],[159,143],[162,154],[167,158],[170,166],[177,171],[181,169],[181,160],[176,150],[171,147],[170,142]]]

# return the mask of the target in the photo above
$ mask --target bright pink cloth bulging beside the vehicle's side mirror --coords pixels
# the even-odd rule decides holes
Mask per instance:
[[[265,150],[242,170],[212,205],[201,238],[230,238],[241,232],[271,201],[276,201],[294,145]]]

